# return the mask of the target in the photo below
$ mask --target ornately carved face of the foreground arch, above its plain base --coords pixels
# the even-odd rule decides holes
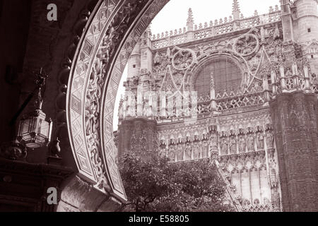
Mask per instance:
[[[115,150],[114,141],[112,141],[112,124],[110,123],[112,120],[107,117],[108,123],[104,124],[103,121],[106,116],[103,117],[102,114],[104,106],[114,106],[120,75],[126,63],[125,60],[128,59],[132,49],[128,49],[128,51],[123,49],[122,54],[119,54],[119,56],[126,56],[126,59],[119,63],[115,62],[115,64],[119,64],[115,72],[116,75],[110,74],[110,77],[114,78],[114,80],[111,80],[114,84],[110,84],[107,87],[106,81],[109,78],[106,78],[107,71],[104,69],[110,61],[114,60],[114,50],[119,47],[119,42],[117,41],[122,40],[120,37],[116,38],[114,36],[118,35],[119,28],[112,26],[116,25],[116,23],[122,26],[123,33],[120,35],[124,37],[130,26],[130,24],[126,26],[127,21],[131,23],[143,7],[148,7],[148,10],[139,18],[139,24],[133,25],[133,30],[127,39],[127,42],[131,42],[131,46],[134,46],[143,30],[146,30],[151,20],[166,3],[167,0],[131,1],[130,4],[121,5],[121,8],[117,7],[119,6],[119,1],[117,0],[100,0],[88,20],[80,44],[78,44],[80,48],[76,50],[75,62],[71,68],[66,112],[69,122],[71,147],[79,173],[95,182],[96,189],[102,192],[111,192],[122,200],[126,199],[126,195],[114,160],[114,153],[117,153],[117,151]],[[115,9],[116,11],[114,11]],[[114,16],[117,17],[115,23],[113,20]],[[110,19],[113,20],[112,25],[110,25]],[[105,44],[109,45],[105,46]],[[104,55],[98,55],[102,52]],[[110,58],[98,61],[96,56],[108,56]],[[92,78],[92,75],[95,75],[95,78]],[[88,86],[85,86],[86,84]],[[107,99],[107,105],[102,105],[102,97]],[[113,107],[111,107],[110,111],[111,117],[112,112]],[[107,126],[99,127],[98,125]],[[107,131],[104,132],[103,130],[105,129]],[[104,136],[99,134],[108,135],[105,136],[105,139]]]

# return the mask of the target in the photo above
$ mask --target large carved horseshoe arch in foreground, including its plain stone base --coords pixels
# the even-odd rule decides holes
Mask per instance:
[[[61,148],[72,150],[78,173],[64,182],[58,211],[113,211],[126,200],[113,157],[114,101],[134,44],[167,2],[93,0],[74,25],[59,73],[56,134],[67,125]]]

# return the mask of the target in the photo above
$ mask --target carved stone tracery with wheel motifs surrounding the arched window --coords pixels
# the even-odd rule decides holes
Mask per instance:
[[[279,30],[280,28],[277,29]],[[265,76],[269,77],[271,68],[273,68],[273,63],[271,61],[277,61],[276,59],[266,59],[267,62],[265,62],[265,58],[272,57],[272,47],[277,51],[281,49],[281,35],[277,37],[277,35],[274,34],[277,29],[275,27],[266,29],[263,28],[263,30],[252,28],[249,32],[241,35],[240,37],[231,37],[229,40],[224,39],[213,41],[211,43],[195,44],[194,46],[190,46],[189,49],[175,47],[172,51],[170,51],[169,48],[157,50],[160,52],[156,52],[153,58],[155,61],[155,69],[153,70],[153,73],[155,73],[155,76],[159,76],[160,74],[164,74],[166,76],[167,73],[170,73],[170,76],[167,76],[167,82],[160,85],[161,90],[171,90],[172,92],[175,92],[182,89],[183,91],[190,91],[194,90],[192,80],[195,76],[194,69],[196,68],[196,65],[199,65],[200,61],[213,56],[228,56],[237,60],[237,62],[239,62],[242,66],[242,90],[240,90],[241,93],[235,94],[230,93],[230,91],[224,94],[216,94],[217,100],[222,98],[225,99],[217,103],[216,110],[222,112],[235,112],[235,110],[232,109],[264,105],[265,98],[263,96],[263,78]],[[261,44],[259,42],[261,39],[265,40],[265,42],[261,43],[264,48],[261,48]],[[268,42],[269,44],[267,44]],[[172,53],[176,51],[177,53],[171,57]],[[274,54],[274,56],[276,55]],[[281,56],[283,56],[283,54],[281,54]],[[193,60],[193,57],[196,58],[195,61]],[[170,62],[171,58],[172,63]],[[184,62],[187,62],[187,66],[176,66],[176,64],[174,64],[175,59],[184,59]],[[160,63],[160,61],[163,61],[163,63]],[[165,63],[166,61],[170,63],[167,64]],[[197,63],[194,64],[194,62]],[[169,68],[171,64],[172,68]],[[264,65],[261,67],[261,64]],[[184,78],[184,81],[182,81],[182,78]],[[163,86],[165,88],[163,88]],[[213,85],[211,85],[211,87],[213,87]],[[257,93],[260,94],[256,96],[247,96],[247,93],[251,93],[253,95],[256,95]],[[242,98],[238,97],[239,95],[242,95]],[[202,99],[202,102],[204,101],[208,100]],[[199,114],[212,111],[211,105],[199,105],[198,108]]]

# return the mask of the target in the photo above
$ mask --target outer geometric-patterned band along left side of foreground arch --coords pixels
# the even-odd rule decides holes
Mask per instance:
[[[76,64],[73,64],[73,68],[71,69],[71,85],[68,90],[68,101],[71,102],[71,106],[66,109],[66,111],[69,111],[69,114],[67,114],[69,116],[69,121],[72,122],[71,126],[69,126],[71,132],[71,146],[76,159],[76,164],[78,165],[78,170],[80,174],[88,177],[95,182],[95,184],[98,182],[98,178],[96,177],[96,170],[91,168],[94,160],[92,158],[92,153],[90,152],[91,150],[88,150],[87,141],[85,141],[87,131],[83,131],[82,129],[87,127],[83,124],[83,117],[85,116],[83,108],[85,105],[81,104],[84,102],[82,100],[83,97],[86,97],[86,88],[84,87],[85,82],[76,81],[88,80],[90,71],[88,65],[94,60],[90,56],[92,52],[98,49],[98,40],[100,40],[103,35],[102,28],[105,28],[107,18],[109,18],[113,10],[113,1],[99,1],[86,25],[86,30],[81,37],[83,45],[79,45],[81,49],[77,50],[77,61]],[[71,97],[71,100],[69,100],[69,97]],[[76,114],[73,112],[76,112]],[[80,114],[80,120],[75,118],[75,115],[77,116],[78,114]],[[76,123],[74,123],[75,121]]]

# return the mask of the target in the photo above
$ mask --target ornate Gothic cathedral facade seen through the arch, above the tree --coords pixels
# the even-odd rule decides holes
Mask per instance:
[[[229,18],[194,25],[189,9],[186,28],[148,28],[128,61],[119,155],[211,158],[237,210],[314,209],[317,40],[310,0],[249,18],[234,0]]]

